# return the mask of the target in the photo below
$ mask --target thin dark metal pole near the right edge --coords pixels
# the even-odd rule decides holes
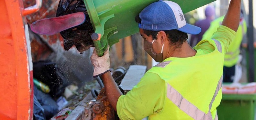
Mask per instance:
[[[248,26],[248,31],[247,31],[247,35],[248,35],[248,52],[249,52],[249,78],[248,81],[249,82],[254,82],[254,47],[253,47],[253,43],[254,43],[254,36],[253,36],[253,9],[252,9],[252,0],[249,0],[249,26]]]

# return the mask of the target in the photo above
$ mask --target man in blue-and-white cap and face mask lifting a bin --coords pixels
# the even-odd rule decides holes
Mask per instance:
[[[136,21],[144,50],[160,63],[146,72],[123,95],[109,72],[109,51],[91,60],[94,76],[101,75],[108,101],[120,119],[215,120],[221,100],[225,52],[236,35],[241,0],[231,0],[222,26],[211,39],[191,48],[188,34],[201,29],[186,23],[180,6],[171,1],[148,5]]]

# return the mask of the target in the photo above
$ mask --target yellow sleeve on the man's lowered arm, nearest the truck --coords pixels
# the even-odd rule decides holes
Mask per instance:
[[[117,115],[121,120],[141,120],[163,108],[165,82],[157,74],[147,72],[140,82],[117,101]]]

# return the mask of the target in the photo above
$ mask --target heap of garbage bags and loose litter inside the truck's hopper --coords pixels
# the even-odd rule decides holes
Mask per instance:
[[[68,84],[61,70],[50,60],[33,63],[34,77],[34,119],[65,119],[91,90],[100,91],[97,80],[78,88]]]

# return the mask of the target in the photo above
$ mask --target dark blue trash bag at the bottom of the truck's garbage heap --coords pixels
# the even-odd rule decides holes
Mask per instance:
[[[43,108],[43,114],[44,114],[46,120],[51,119],[52,116],[54,116],[58,113],[59,106],[58,106],[57,102],[54,101],[49,94],[46,94],[46,93],[38,90],[35,85],[34,85],[34,97],[36,97],[36,100],[41,105],[41,108]],[[38,103],[35,102],[35,100],[34,100],[34,105],[35,105],[35,103],[38,105]],[[40,116],[40,118],[39,117],[38,118],[39,118],[39,120],[41,120],[42,112],[37,112],[37,111],[39,111],[39,110],[34,111],[34,115],[36,115],[36,117]],[[37,112],[37,113],[35,113],[35,112]],[[45,119],[43,119],[43,120],[45,120]]]

